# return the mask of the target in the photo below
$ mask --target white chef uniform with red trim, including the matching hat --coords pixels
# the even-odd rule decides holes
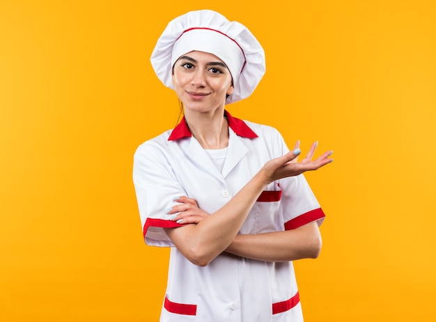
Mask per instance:
[[[232,29],[232,26],[235,27]],[[201,37],[194,33],[206,32],[219,39],[208,46],[224,41],[236,45],[233,47],[239,51],[239,56],[241,51],[244,53],[240,62],[231,66],[229,59],[221,58],[228,54],[219,52],[222,44],[209,51],[223,60],[232,73],[235,91],[227,102],[247,97],[262,77],[265,61],[263,49],[256,38],[241,26],[210,10],[194,11],[176,18],[159,38],[152,55],[159,79],[171,87],[168,79],[171,70],[168,75],[169,71],[162,67],[163,53],[171,54],[171,64],[167,62],[166,65],[172,67],[181,54],[192,50],[208,52],[208,48],[198,44],[189,50],[193,40]],[[232,35],[231,31],[235,29],[238,34]],[[169,36],[169,30],[172,36]],[[179,49],[168,45],[171,37],[173,43],[177,43],[180,37],[188,34],[193,38],[187,45],[181,44]],[[208,38],[215,36],[208,35]],[[238,39],[237,43],[235,39]],[[230,60],[237,59],[231,57]],[[235,70],[240,70],[241,64],[251,73],[244,75],[240,72],[235,77],[234,74],[238,74]],[[165,68],[168,69],[167,66]],[[202,210],[213,214],[235,196],[265,162],[289,151],[274,128],[242,121],[227,111],[224,116],[228,119],[229,139],[228,147],[220,152],[225,156],[221,167],[217,167],[208,151],[192,136],[185,118],[173,130],[141,144],[134,155],[133,178],[145,241],[148,245],[171,247],[168,284],[160,321],[303,321],[291,261],[256,261],[224,252],[208,266],[196,266],[174,247],[164,231],[164,228],[182,226],[169,220],[171,215],[167,214],[177,204],[174,199],[181,196],[196,199]],[[309,222],[321,224],[324,217],[304,176],[293,176],[268,185],[251,208],[239,233],[296,229]]]

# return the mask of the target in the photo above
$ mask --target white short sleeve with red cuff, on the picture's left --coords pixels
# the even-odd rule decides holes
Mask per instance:
[[[133,183],[137,194],[143,236],[147,245],[173,247],[164,228],[180,227],[167,212],[186,195],[159,146],[146,142],[134,153]]]

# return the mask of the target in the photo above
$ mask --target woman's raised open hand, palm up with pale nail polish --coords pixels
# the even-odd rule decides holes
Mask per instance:
[[[272,183],[273,181],[279,180],[281,178],[286,178],[289,176],[298,176],[306,171],[313,171],[324,167],[333,161],[329,158],[333,151],[327,151],[320,155],[316,160],[312,160],[315,154],[318,142],[312,144],[309,153],[307,153],[306,158],[298,162],[298,156],[301,153],[299,149],[299,141],[295,144],[294,150],[286,153],[279,158],[274,158],[265,163],[262,170],[267,183]]]

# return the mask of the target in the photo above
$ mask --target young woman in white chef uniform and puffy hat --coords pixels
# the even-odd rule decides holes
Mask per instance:
[[[151,58],[184,118],[141,144],[134,185],[148,245],[171,247],[161,321],[302,321],[293,261],[316,258],[325,215],[280,133],[225,105],[247,98],[265,72],[250,31],[219,13],[177,17]]]

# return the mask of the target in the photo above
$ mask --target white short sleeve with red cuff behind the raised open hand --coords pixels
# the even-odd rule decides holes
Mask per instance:
[[[288,146],[280,134],[277,142],[279,142],[278,148],[281,149],[280,155],[288,153]],[[322,224],[325,214],[303,174],[281,179],[279,187],[281,189],[280,212],[285,230],[296,229],[310,222],[317,222],[318,226]]]

